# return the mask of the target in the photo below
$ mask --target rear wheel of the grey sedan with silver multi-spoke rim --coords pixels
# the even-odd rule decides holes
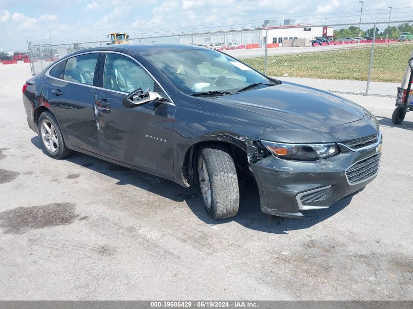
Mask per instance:
[[[44,150],[54,159],[63,159],[71,154],[63,140],[62,131],[53,114],[45,111],[39,117],[39,136]]]

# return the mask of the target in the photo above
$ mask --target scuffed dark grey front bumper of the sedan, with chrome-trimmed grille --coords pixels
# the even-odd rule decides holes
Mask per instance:
[[[261,211],[304,218],[302,211],[328,208],[360,190],[377,175],[381,142],[380,135],[377,144],[359,151],[339,144],[340,154],[319,161],[283,160],[270,155],[251,164],[260,192]],[[377,170],[374,168],[368,174],[370,165],[375,165]],[[366,177],[359,180],[364,169],[367,169]]]

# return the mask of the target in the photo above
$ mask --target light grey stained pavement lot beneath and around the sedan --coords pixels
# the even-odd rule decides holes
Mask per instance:
[[[0,299],[407,300],[413,295],[413,113],[344,95],[377,116],[377,179],[281,225],[242,185],[239,214],[210,220],[170,181],[75,153],[48,157],[22,105],[28,64],[0,64]]]

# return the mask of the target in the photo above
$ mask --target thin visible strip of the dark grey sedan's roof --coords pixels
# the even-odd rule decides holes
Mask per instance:
[[[185,49],[208,49],[203,46],[190,44],[159,44],[159,43],[127,43],[127,44],[111,44],[79,50],[71,55],[85,53],[90,51],[133,51],[139,54],[146,54],[159,51],[185,50]],[[209,49],[208,49],[209,50]]]

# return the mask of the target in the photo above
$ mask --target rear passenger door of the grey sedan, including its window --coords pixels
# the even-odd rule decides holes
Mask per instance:
[[[86,53],[58,62],[47,73],[47,101],[61,127],[65,143],[99,152],[94,97],[100,53]]]

